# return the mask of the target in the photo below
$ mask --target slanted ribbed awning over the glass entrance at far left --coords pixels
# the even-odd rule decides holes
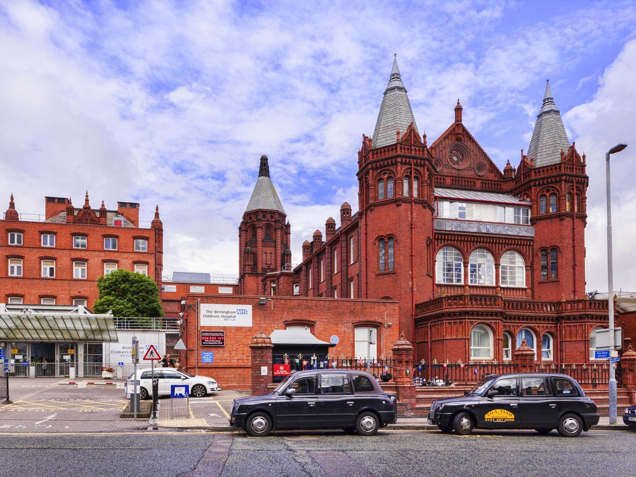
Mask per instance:
[[[117,342],[113,315],[0,313],[0,341]]]

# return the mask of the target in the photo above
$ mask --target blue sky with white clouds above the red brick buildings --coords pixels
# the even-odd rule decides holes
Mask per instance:
[[[606,289],[604,151],[633,144],[636,6],[609,2],[0,1],[0,197],[160,205],[165,270],[236,276],[261,154],[300,244],[347,200],[397,53],[429,142],[464,123],[499,167],[550,78],[588,155],[588,290]],[[616,284],[636,291],[636,159],[614,162]],[[635,269],[636,270],[636,269]]]

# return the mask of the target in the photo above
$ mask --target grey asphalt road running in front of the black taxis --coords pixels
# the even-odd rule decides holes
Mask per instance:
[[[625,476],[636,432],[279,432],[268,438],[204,432],[0,434],[2,474],[72,476]]]

